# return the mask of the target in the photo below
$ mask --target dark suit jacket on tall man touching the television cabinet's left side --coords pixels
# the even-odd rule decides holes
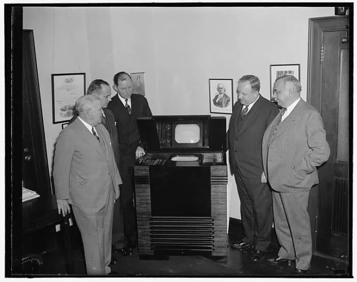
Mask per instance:
[[[132,94],[131,100],[131,115],[119,100],[118,93],[108,104],[108,109],[113,112],[116,122],[120,148],[120,165],[122,166],[133,166],[135,163],[135,151],[140,141],[136,119],[152,116],[149,104],[144,96]]]

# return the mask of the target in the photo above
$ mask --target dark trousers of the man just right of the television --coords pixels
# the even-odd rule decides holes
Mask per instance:
[[[243,177],[239,168],[234,176],[241,202],[242,240],[265,251],[271,242],[273,224],[271,189],[268,184],[262,184],[260,178]]]

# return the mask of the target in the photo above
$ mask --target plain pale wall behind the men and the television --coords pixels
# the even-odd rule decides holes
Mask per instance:
[[[24,7],[23,28],[35,36],[50,172],[61,130],[52,124],[51,73],[86,72],[88,86],[95,78],[112,84],[118,71],[144,71],[154,115],[206,115],[209,78],[233,78],[235,91],[239,77],[257,75],[269,99],[269,65],[300,64],[306,99],[309,18],[333,15],[333,7]],[[230,115],[223,116],[228,124]],[[231,217],[240,218],[239,205],[230,176]]]

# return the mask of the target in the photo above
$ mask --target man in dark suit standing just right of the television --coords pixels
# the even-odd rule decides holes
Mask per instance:
[[[261,183],[263,134],[278,113],[276,105],[260,94],[257,76],[238,81],[238,99],[228,130],[230,165],[241,202],[243,238],[232,243],[236,249],[254,246],[252,260],[260,261],[271,242],[273,222],[271,190]]]

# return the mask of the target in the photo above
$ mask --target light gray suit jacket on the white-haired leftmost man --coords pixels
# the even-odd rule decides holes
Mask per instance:
[[[109,133],[102,124],[95,128],[103,143],[99,143],[78,118],[57,138],[53,171],[56,197],[68,199],[77,207],[103,207],[111,182],[115,199],[119,197],[118,185],[122,181]],[[105,152],[101,146],[105,146]]]

